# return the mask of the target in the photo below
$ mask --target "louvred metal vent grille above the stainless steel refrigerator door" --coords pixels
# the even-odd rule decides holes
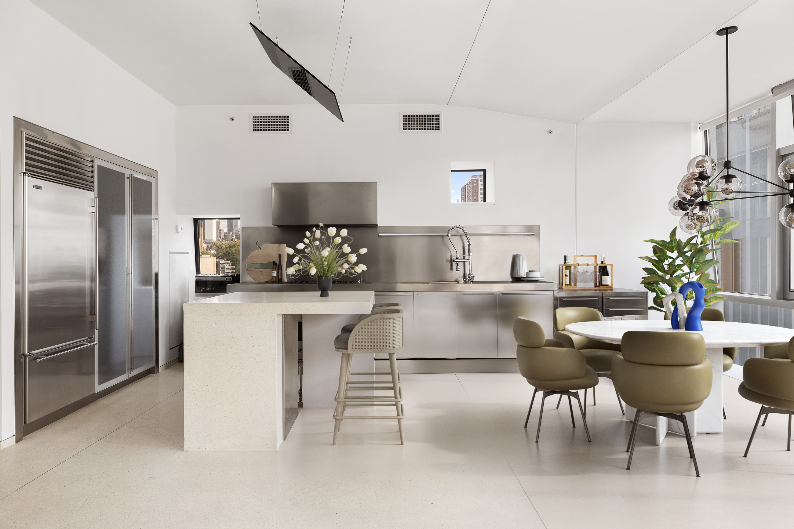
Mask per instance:
[[[94,159],[25,134],[25,172],[81,190],[94,190]]]

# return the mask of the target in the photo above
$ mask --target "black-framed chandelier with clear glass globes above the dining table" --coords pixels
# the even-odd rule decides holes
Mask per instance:
[[[680,217],[679,228],[685,233],[697,233],[701,229],[707,228],[715,223],[717,219],[717,209],[708,199],[716,195],[719,201],[742,200],[743,198],[759,197],[794,197],[794,190],[790,185],[794,183],[794,158],[785,159],[780,167],[777,167],[777,175],[785,182],[786,186],[781,186],[775,182],[769,182],[764,178],[747,171],[742,171],[733,167],[730,161],[730,151],[728,150],[728,124],[730,123],[728,113],[728,35],[736,33],[738,27],[730,25],[727,28],[719,29],[717,35],[725,36],[725,161],[722,171],[717,172],[717,162],[709,155],[697,155],[689,160],[687,164],[687,174],[681,178],[676,187],[676,196],[671,198],[667,204],[667,209],[676,217]],[[743,191],[742,180],[736,175],[731,174],[731,170],[752,176],[768,184],[772,184],[784,192],[773,193],[771,191]],[[750,196],[739,197],[738,194],[748,194]],[[777,219],[786,228],[794,229],[794,204],[789,203],[783,206]]]

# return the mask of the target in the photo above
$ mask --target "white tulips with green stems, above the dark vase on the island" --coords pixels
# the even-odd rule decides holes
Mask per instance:
[[[319,228],[311,228],[310,232],[306,232],[306,239],[295,245],[295,248],[303,253],[287,248],[289,255],[295,255],[292,259],[292,263],[295,264],[287,268],[287,275],[300,274],[307,270],[313,277],[340,278],[343,275],[357,275],[367,270],[364,264],[353,266],[357,254],[367,253],[367,248],[352,252],[349,243],[353,242],[353,237],[348,236],[345,228],[339,230],[339,236],[336,236],[337,228],[331,227],[324,231],[322,228],[325,226],[322,223],[319,226]],[[343,243],[343,239],[348,240]]]

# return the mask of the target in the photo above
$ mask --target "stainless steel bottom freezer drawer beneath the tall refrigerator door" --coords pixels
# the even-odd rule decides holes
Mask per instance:
[[[94,393],[93,345],[36,361],[48,355],[50,353],[25,358],[26,423]]]

